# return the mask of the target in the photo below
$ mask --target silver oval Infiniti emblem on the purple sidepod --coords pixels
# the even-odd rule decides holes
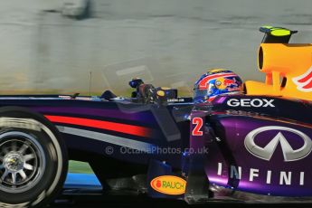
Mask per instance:
[[[279,133],[269,141],[269,144],[266,147],[257,146],[254,142],[255,137],[257,137],[257,135],[259,135],[260,133],[269,131],[269,130],[278,130]],[[298,135],[298,137],[300,137],[304,142],[303,146],[296,150],[293,149],[287,141],[288,139],[291,139],[291,138],[289,137],[286,138],[281,133],[281,131],[288,131],[288,132]],[[244,142],[246,149],[253,156],[257,156],[261,159],[268,160],[268,161],[273,156],[273,153],[275,152],[275,149],[276,147],[278,147],[279,143],[283,151],[285,162],[296,161],[296,160],[302,159],[308,156],[308,154],[312,150],[312,141],[310,137],[307,137],[306,134],[293,128],[285,128],[285,127],[279,127],[279,126],[269,126],[269,127],[254,129],[245,137],[245,142]]]

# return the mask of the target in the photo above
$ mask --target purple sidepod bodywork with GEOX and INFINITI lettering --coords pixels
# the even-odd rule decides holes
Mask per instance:
[[[311,105],[267,96],[228,96],[213,101],[213,111],[193,110],[205,124],[205,173],[213,186],[270,196],[311,196]],[[215,188],[215,187],[214,187]],[[221,192],[224,196],[224,189]],[[218,192],[214,192],[218,195]],[[225,194],[227,195],[227,194]],[[260,197],[261,198],[261,197]],[[239,199],[239,197],[237,198]],[[244,201],[255,200],[254,195]]]

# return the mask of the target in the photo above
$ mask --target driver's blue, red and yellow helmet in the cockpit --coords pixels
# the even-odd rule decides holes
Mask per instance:
[[[241,93],[241,78],[234,72],[213,69],[204,73],[194,84],[194,102],[212,101],[219,95]]]

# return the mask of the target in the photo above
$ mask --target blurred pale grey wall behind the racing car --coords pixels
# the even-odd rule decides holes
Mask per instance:
[[[5,93],[128,95],[128,80],[191,94],[207,69],[257,71],[260,25],[312,42],[311,0],[0,0]],[[91,80],[91,86],[90,86]]]

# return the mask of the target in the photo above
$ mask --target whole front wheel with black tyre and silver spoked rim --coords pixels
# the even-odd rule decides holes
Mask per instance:
[[[0,108],[0,208],[50,203],[67,170],[67,149],[57,128],[28,109]]]

